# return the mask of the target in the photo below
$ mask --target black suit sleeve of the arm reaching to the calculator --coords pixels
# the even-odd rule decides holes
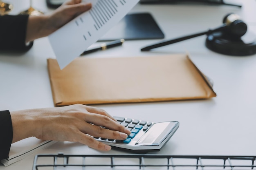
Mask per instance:
[[[0,111],[0,160],[7,159],[13,137],[9,110]]]

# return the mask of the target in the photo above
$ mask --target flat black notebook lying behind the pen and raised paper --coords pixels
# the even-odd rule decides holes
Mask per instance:
[[[127,14],[99,41],[162,39],[164,33],[150,13]]]

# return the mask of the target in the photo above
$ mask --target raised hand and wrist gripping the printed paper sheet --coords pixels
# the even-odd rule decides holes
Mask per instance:
[[[29,16],[26,42],[50,35],[77,15],[91,8],[91,3],[81,2],[81,0],[68,0],[51,14]]]

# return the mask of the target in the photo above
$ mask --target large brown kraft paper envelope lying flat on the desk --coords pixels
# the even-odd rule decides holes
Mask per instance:
[[[79,57],[61,70],[48,59],[55,106],[216,97],[187,55]]]

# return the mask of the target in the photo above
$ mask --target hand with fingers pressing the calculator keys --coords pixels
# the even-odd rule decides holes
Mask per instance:
[[[130,134],[130,130],[106,111],[81,104],[14,111],[11,120],[13,143],[35,136],[45,140],[80,142],[104,151],[111,147],[93,137],[124,140]]]

